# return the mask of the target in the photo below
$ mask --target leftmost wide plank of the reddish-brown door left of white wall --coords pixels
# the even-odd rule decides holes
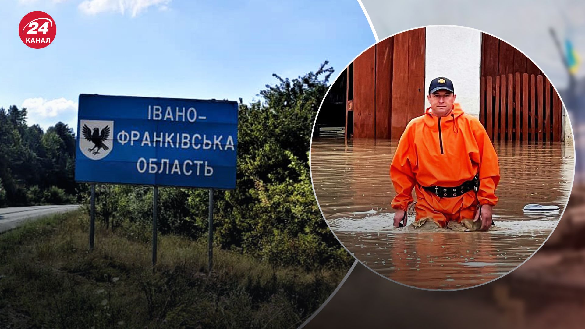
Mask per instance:
[[[353,138],[374,138],[376,47],[353,61]]]

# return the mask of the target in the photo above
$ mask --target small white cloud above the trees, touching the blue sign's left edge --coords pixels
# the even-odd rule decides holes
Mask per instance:
[[[22,108],[28,113],[27,123],[38,124],[44,131],[61,121],[77,130],[77,103],[65,98],[45,100],[44,98],[27,98]]]

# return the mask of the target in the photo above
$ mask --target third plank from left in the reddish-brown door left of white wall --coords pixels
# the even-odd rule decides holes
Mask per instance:
[[[392,63],[392,122],[390,135],[400,139],[408,124],[408,33],[394,36]]]

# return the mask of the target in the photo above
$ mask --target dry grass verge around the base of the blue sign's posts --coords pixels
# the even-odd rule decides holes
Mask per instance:
[[[87,215],[42,218],[0,235],[0,324],[12,328],[296,328],[345,271],[274,268],[207,241],[148,227],[99,225],[88,251]]]

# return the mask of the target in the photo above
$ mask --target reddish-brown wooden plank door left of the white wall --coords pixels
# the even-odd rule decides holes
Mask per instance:
[[[424,113],[425,28],[384,39],[353,61],[353,137],[398,139]]]

